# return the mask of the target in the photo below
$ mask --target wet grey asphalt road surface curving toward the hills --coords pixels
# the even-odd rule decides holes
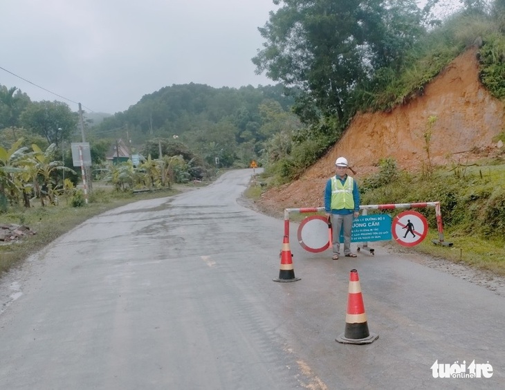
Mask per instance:
[[[4,277],[0,389],[505,388],[504,296],[383,248],[311,254],[294,223],[301,280],[276,283],[284,221],[237,202],[251,174],[96,216]],[[353,268],[367,345],[336,342]]]

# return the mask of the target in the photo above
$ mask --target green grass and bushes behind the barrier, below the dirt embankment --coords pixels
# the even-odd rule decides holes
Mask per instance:
[[[438,240],[433,209],[416,209],[428,219],[430,236],[416,250],[463,262],[505,276],[505,160],[482,161],[478,166],[437,167],[430,176],[396,169],[396,162],[380,162],[377,174],[360,186],[362,203],[440,201],[446,241],[452,248],[432,245]],[[403,210],[395,210],[396,216]]]

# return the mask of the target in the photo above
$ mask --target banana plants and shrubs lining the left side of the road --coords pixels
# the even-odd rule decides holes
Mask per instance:
[[[59,199],[71,197],[74,207],[82,205],[84,195],[75,187],[76,172],[64,167],[63,161],[55,160],[58,151],[53,143],[46,151],[37,145],[20,147],[23,140],[15,142],[10,149],[0,147],[0,212],[7,212],[8,205],[32,207],[38,199],[42,206],[57,205]],[[187,183],[191,179],[209,178],[212,172],[196,163],[196,158],[186,162],[180,145],[172,146],[174,156],[162,156],[156,160],[149,155],[147,160],[134,167],[131,160],[125,163],[102,165],[103,180],[116,191],[127,189],[170,188],[174,183]],[[178,154],[180,153],[180,154]],[[188,152],[186,158],[192,155]],[[64,179],[65,172],[67,178]],[[68,178],[68,176],[71,178]],[[89,179],[88,179],[89,184]]]

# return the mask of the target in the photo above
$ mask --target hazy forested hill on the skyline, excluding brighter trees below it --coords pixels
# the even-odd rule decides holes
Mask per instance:
[[[243,86],[213,88],[205,84],[174,84],[144,95],[127,111],[104,120],[96,133],[120,129],[129,131],[131,140],[143,143],[152,136],[173,137],[197,133],[226,123],[235,127],[237,140],[264,139],[266,106],[276,111],[291,111],[294,98],[284,94],[284,86]],[[275,108],[273,107],[275,106]],[[263,110],[263,111],[261,111]],[[223,124],[224,126],[224,124]],[[215,130],[215,129],[214,129]],[[194,135],[194,134],[193,134]]]

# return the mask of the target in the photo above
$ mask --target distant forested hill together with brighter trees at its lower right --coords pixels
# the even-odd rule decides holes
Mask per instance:
[[[294,101],[282,84],[239,89],[174,84],[144,95],[90,133],[95,138],[128,137],[132,146],[153,158],[158,147],[149,140],[162,139],[182,142],[208,163],[218,157],[225,167],[248,164],[258,158],[270,137],[300,129],[291,112]]]

